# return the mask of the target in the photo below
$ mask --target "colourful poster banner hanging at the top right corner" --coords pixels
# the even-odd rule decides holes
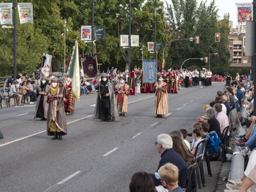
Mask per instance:
[[[237,35],[246,33],[246,20],[253,20],[253,3],[236,3]]]

